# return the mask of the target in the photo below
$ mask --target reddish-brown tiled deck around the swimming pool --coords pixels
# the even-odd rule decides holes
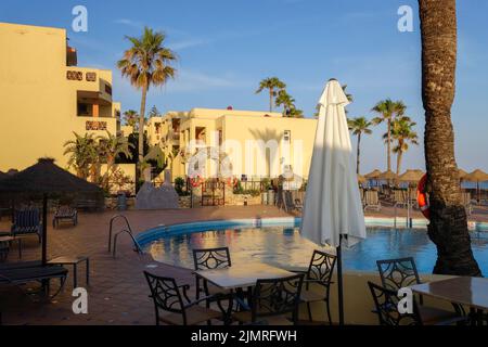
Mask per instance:
[[[475,210],[470,220],[488,221],[488,208]],[[380,214],[368,216],[393,217],[394,209],[385,206]],[[404,210],[400,211],[404,214]],[[121,235],[117,246],[117,258],[107,253],[108,224],[115,211],[80,214],[79,223],[52,229],[48,224],[49,257],[84,255],[90,258],[90,285],[88,314],[74,314],[72,304],[73,279],[68,277],[64,291],[53,300],[35,304],[26,299],[16,287],[0,287],[0,308],[3,308],[3,324],[154,324],[154,308],[147,297],[149,288],[142,271],[147,265],[155,265],[149,255],[139,256],[132,250],[131,241]],[[399,215],[401,215],[399,214]],[[274,206],[226,206],[179,210],[128,210],[125,211],[133,232],[140,233],[158,224],[189,221],[221,220],[235,218],[288,217]],[[414,211],[414,218],[421,218]],[[49,219],[51,220],[51,219]],[[115,226],[117,227],[117,226]],[[119,224],[120,227],[120,224]],[[0,231],[9,230],[10,221],[0,221]],[[22,260],[40,258],[37,237],[24,239]],[[8,262],[18,261],[16,244],[13,245]],[[67,267],[70,270],[70,267]],[[85,267],[78,268],[78,285],[85,285]],[[191,271],[157,264],[150,271],[174,277],[181,284],[194,283]],[[7,299],[7,305],[5,305]]]

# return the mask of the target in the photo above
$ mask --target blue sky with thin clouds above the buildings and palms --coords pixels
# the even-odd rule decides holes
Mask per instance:
[[[75,33],[75,5],[88,10],[88,31]],[[398,9],[413,10],[413,31],[401,33]],[[457,97],[452,107],[458,165],[488,171],[488,1],[458,1]],[[162,113],[193,107],[268,110],[262,78],[287,85],[296,106],[311,117],[324,83],[347,85],[350,117],[372,118],[380,100],[402,100],[418,123],[421,145],[411,146],[403,168],[424,168],[421,43],[415,0],[206,0],[70,1],[2,0],[0,22],[67,29],[78,65],[113,70],[114,100],[123,112],[139,111],[140,92],[121,78],[116,62],[126,36],[144,26],[166,34],[178,55],[177,77],[153,88],[147,107]],[[361,141],[361,171],[385,169],[385,126]],[[313,134],[311,134],[313,136]],[[352,139],[356,145],[356,139]],[[395,158],[394,158],[395,164]],[[395,169],[395,166],[394,166]]]

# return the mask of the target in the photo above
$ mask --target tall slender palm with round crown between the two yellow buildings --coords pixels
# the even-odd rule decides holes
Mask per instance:
[[[132,47],[124,52],[117,62],[123,76],[128,77],[132,86],[142,90],[141,111],[139,113],[139,164],[144,160],[145,99],[151,86],[162,86],[175,77],[176,69],[170,64],[177,60],[175,53],[164,47],[166,35],[145,27],[140,38],[126,37]],[[142,133],[142,134],[141,134]]]

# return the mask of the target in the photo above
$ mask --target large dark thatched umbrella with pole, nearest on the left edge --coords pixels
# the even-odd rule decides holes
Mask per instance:
[[[48,260],[48,198],[66,193],[103,195],[100,187],[69,174],[50,158],[41,158],[37,164],[0,181],[0,194],[22,193],[42,195],[42,265]]]

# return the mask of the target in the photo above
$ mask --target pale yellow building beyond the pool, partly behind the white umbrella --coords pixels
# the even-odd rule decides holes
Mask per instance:
[[[307,178],[316,128],[317,119],[281,113],[192,108],[151,118],[146,133],[170,158],[172,179],[188,176],[195,153],[207,151],[206,177],[219,175],[222,163],[230,163],[233,177],[259,180],[286,169]]]

